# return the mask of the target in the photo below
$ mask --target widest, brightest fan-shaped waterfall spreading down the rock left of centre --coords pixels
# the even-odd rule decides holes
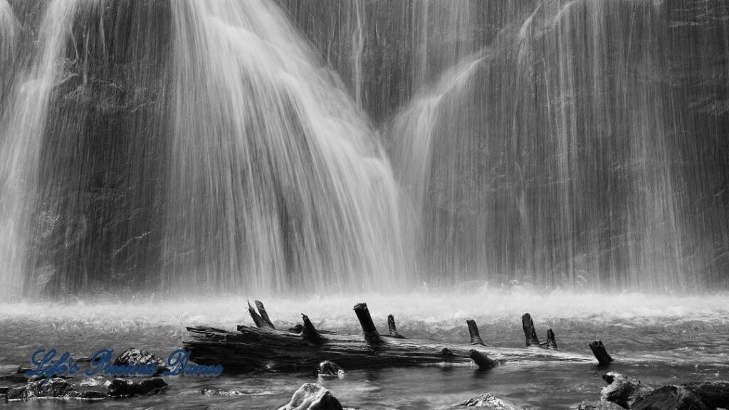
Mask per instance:
[[[403,261],[373,131],[265,1],[176,1],[163,286],[383,289]]]

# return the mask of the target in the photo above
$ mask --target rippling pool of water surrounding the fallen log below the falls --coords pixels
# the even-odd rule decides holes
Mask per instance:
[[[317,328],[357,333],[351,308],[366,301],[375,323],[386,329],[394,314],[405,336],[467,343],[465,321],[475,319],[489,347],[521,347],[521,314],[531,313],[544,338],[553,328],[563,351],[590,355],[588,342],[604,341],[617,360],[609,367],[648,384],[729,379],[728,295],[594,295],[530,292],[413,293],[309,298],[264,298],[279,328],[305,313]],[[101,348],[141,347],[166,357],[182,346],[185,325],[235,329],[252,325],[246,298],[200,301],[69,301],[0,304],[0,367],[30,365],[41,348],[88,356]],[[225,363],[222,363],[225,365]],[[344,406],[355,409],[444,409],[482,392],[519,406],[568,409],[598,398],[607,370],[595,363],[504,363],[489,371],[472,365],[350,370],[343,379],[298,374],[224,374],[214,379],[168,377],[162,395],[120,401],[12,402],[13,409],[274,409],[305,382],[320,382]],[[203,395],[203,389],[241,395]]]

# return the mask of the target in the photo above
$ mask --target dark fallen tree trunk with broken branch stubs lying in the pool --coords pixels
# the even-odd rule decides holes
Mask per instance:
[[[262,303],[257,302],[259,311]],[[362,327],[362,335],[340,335],[318,330],[303,314],[303,325],[289,331],[273,328],[268,315],[254,314],[259,328],[238,326],[238,332],[209,327],[189,327],[191,338],[184,341],[190,360],[198,364],[222,364],[226,371],[297,370],[314,368],[322,360],[331,360],[346,369],[383,368],[391,366],[433,365],[438,363],[476,363],[481,369],[512,360],[586,362],[590,357],[557,352],[553,332],[550,349],[529,347],[505,349],[483,346],[478,328],[469,325],[471,344],[441,344],[434,341],[406,339],[397,333],[394,317],[389,317],[389,335],[380,334],[367,304],[358,303],[354,312]],[[527,344],[534,336],[531,317],[523,320]],[[529,326],[529,329],[527,329]],[[292,331],[293,330],[293,331]],[[539,342],[536,341],[537,346]]]

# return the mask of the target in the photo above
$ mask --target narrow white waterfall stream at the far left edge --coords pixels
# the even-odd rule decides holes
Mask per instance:
[[[0,10],[7,10],[7,3]],[[39,33],[39,47],[27,72],[17,73],[0,126],[0,280],[5,295],[20,293],[26,274],[26,242],[31,231],[28,202],[37,184],[39,155],[50,94],[59,81],[57,62],[69,35],[78,1],[50,4]],[[14,26],[3,18],[3,34]],[[13,39],[12,34],[9,39]],[[3,39],[5,42],[6,40]],[[4,46],[4,52],[10,46]]]

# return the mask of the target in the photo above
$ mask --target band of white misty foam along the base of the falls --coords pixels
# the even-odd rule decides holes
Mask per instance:
[[[84,321],[100,327],[116,327],[124,322],[149,325],[216,325],[235,328],[252,325],[246,300],[255,295],[199,301],[95,301],[73,303],[1,303],[0,320]],[[462,293],[410,293],[391,296],[362,294],[347,296],[313,295],[308,298],[263,298],[273,322],[295,323],[304,312],[314,322],[328,328],[352,328],[355,303],[367,302],[375,320],[394,314],[398,323],[425,322],[432,325],[476,318],[480,322],[521,320],[531,312],[535,320],[592,320],[645,325],[652,322],[727,323],[728,295],[650,295],[643,293],[597,294],[531,291],[483,291]],[[454,323],[456,324],[456,323]]]

